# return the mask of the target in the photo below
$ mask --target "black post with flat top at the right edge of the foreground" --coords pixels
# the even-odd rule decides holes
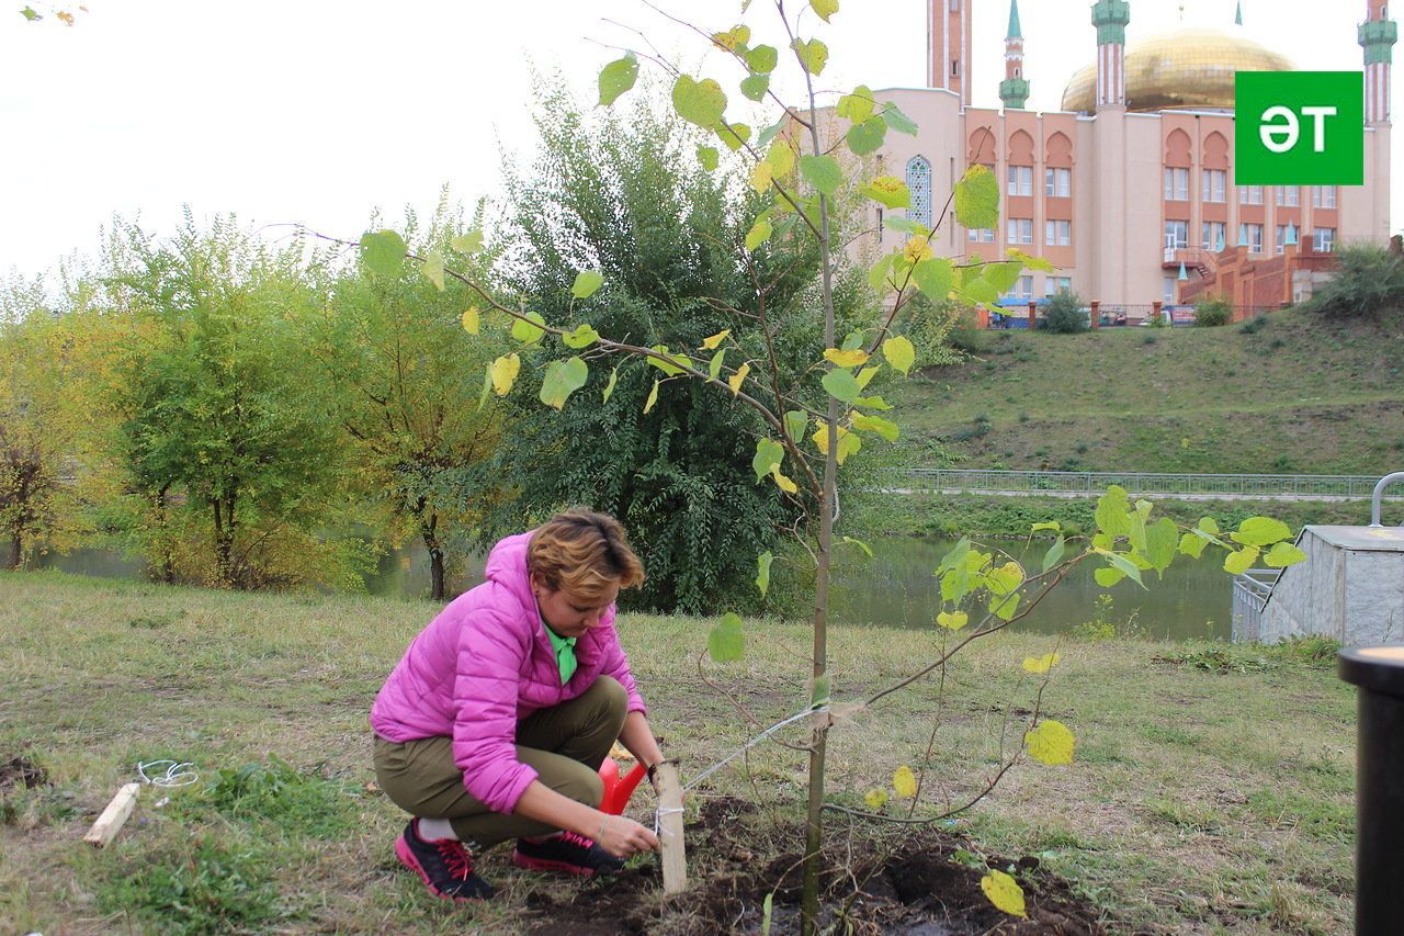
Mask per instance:
[[[1404,933],[1404,646],[1341,651],[1360,689],[1355,790],[1355,933]]]

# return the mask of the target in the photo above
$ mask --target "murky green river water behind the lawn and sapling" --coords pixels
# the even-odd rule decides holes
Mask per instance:
[[[854,547],[842,547],[842,564],[833,579],[830,620],[834,624],[879,624],[886,627],[934,627],[939,610],[938,580],[932,571],[955,540],[887,537],[873,540],[873,558],[868,559]],[[1002,542],[1026,568],[1040,565],[1046,542],[1036,542],[1029,557],[1021,557],[1022,542]],[[79,550],[69,555],[46,555],[41,566],[80,575],[133,578],[142,573],[139,562],[124,559],[110,550]],[[458,594],[482,582],[483,559],[472,557],[465,575],[449,578],[449,593]],[[1163,580],[1154,572],[1146,573],[1148,590],[1123,580],[1116,587],[1102,589],[1092,580],[1095,565],[1088,561],[1054,589],[1043,602],[1021,620],[1016,627],[1039,632],[1064,632],[1099,617],[1133,628],[1158,639],[1189,639],[1230,637],[1230,603],[1233,580],[1219,568],[1210,554],[1199,562],[1178,557]],[[779,565],[776,578],[782,575]],[[404,548],[388,554],[373,573],[366,576],[371,594],[423,599],[430,592],[428,558],[423,547]],[[1111,607],[1098,596],[1109,594]]]

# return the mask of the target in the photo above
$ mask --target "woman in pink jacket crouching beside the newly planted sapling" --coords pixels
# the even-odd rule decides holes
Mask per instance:
[[[650,777],[663,762],[614,628],[619,589],[643,582],[623,527],[557,514],[493,547],[486,579],[410,642],[371,708],[376,779],[414,817],[395,853],[444,898],[491,897],[470,849],[505,839],[514,864],[569,874],[658,847],[595,808],[616,739]]]

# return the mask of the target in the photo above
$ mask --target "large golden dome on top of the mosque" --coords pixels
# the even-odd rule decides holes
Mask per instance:
[[[1236,72],[1290,72],[1292,60],[1252,39],[1217,30],[1177,30],[1126,48],[1126,110],[1234,108]],[[1073,76],[1064,111],[1097,110],[1097,65]]]

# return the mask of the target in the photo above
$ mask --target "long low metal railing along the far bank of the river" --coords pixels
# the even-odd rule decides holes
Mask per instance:
[[[1139,471],[997,471],[910,468],[907,483],[925,492],[1098,493],[1120,485],[1132,495],[1327,496],[1366,499],[1369,475],[1172,475]],[[1404,490],[1389,498],[1404,498]]]

